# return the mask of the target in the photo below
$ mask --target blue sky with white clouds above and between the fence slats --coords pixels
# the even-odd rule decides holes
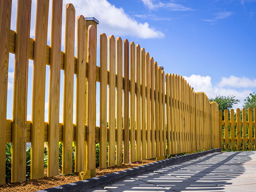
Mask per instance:
[[[158,65],[164,66],[165,73],[184,76],[196,92],[203,91],[209,98],[219,94],[235,95],[241,100],[235,108],[242,108],[244,98],[256,92],[256,0],[64,0],[63,29],[67,3],[74,5],[76,16],[93,16],[100,21],[98,36],[113,34],[140,44]],[[12,4],[11,28],[15,30],[17,0]],[[32,0],[32,38],[35,10],[36,1]],[[50,23],[49,20],[48,44]],[[12,118],[13,62],[11,54],[8,119]],[[32,70],[33,61],[30,61],[28,120]],[[48,70],[47,66],[46,79]],[[48,113],[47,83],[45,116]]]

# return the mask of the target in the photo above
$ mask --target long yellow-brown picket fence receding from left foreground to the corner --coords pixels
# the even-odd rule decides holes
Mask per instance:
[[[44,177],[45,142],[47,175],[54,176],[59,174],[60,141],[62,173],[72,172],[75,141],[75,172],[80,172],[80,179],[95,175],[95,142],[100,142],[100,168],[221,146],[217,103],[210,103],[203,92],[195,93],[182,76],[165,74],[140,45],[101,34],[98,67],[95,20],[80,15],[75,30],[75,8],[67,4],[62,52],[62,0],[52,1],[50,46],[49,0],[37,1],[35,39],[30,38],[31,1],[18,0],[16,31],[10,30],[11,2],[0,0],[0,184],[5,183],[5,146],[10,142],[11,182],[26,180],[27,142],[31,142],[31,179]],[[15,54],[12,120],[6,120],[9,52]],[[29,59],[34,60],[32,121],[27,121]],[[46,65],[50,65],[49,122],[44,122]],[[64,70],[63,123],[60,70]],[[96,127],[96,81],[100,127]]]

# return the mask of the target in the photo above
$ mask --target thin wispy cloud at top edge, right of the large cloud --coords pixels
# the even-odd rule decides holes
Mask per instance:
[[[169,9],[171,11],[193,11],[193,9],[189,7],[185,7],[181,4],[176,4],[176,3],[162,3],[158,1],[157,3],[154,4],[155,0],[141,0],[142,3],[148,7],[150,10],[156,10],[159,8],[164,8],[164,9]]]

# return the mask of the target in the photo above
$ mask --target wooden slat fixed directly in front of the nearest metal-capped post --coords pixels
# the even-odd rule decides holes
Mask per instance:
[[[87,47],[87,129],[86,129],[86,169],[95,177],[95,127],[96,127],[96,29],[88,27]]]

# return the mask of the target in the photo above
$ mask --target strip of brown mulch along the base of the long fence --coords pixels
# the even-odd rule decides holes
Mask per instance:
[[[117,165],[115,167],[108,167],[106,169],[96,168],[96,177],[100,175],[106,175],[112,172],[130,169],[143,164],[149,164],[155,161],[156,159],[149,159],[149,160],[135,162],[132,164],[123,164],[123,165]],[[17,182],[17,183],[6,183],[5,185],[0,186],[0,191],[1,192],[21,192],[21,191],[33,192],[33,191],[38,191],[45,188],[51,188],[51,187],[60,186],[68,183],[73,183],[76,181],[78,181],[77,173],[71,174],[68,176],[58,175],[54,177],[46,177],[46,170],[45,170],[45,177],[42,179],[27,180],[27,181]]]

